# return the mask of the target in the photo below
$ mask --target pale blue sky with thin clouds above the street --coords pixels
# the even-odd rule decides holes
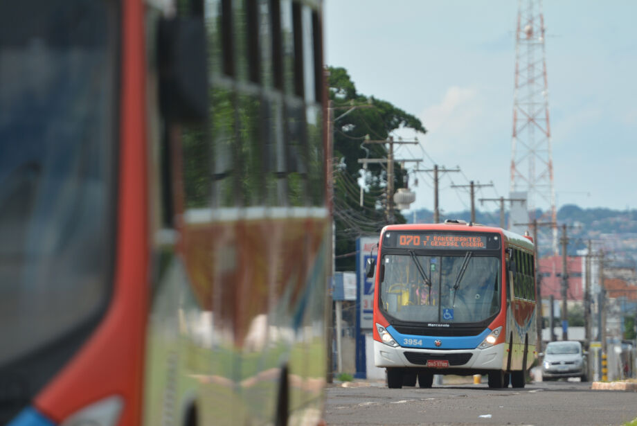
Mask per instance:
[[[637,1],[543,3],[556,206],[637,208]],[[517,12],[514,0],[325,0],[325,63],[428,130],[396,132],[424,150],[396,158],[462,170],[440,179],[443,212],[470,205],[452,184],[509,196]],[[431,210],[433,179],[417,175],[412,208]]]

